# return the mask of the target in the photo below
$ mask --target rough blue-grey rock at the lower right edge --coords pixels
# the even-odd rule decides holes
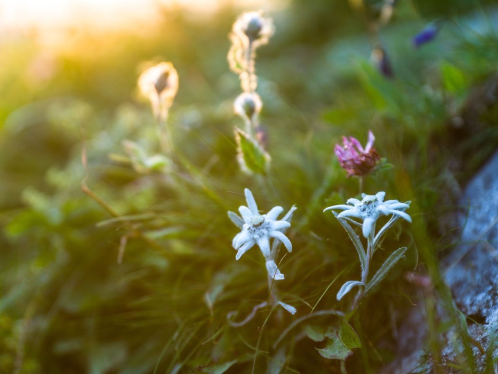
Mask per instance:
[[[456,306],[468,316],[471,349],[478,373],[486,373],[486,350],[497,357],[498,333],[498,152],[476,174],[460,198],[458,216],[461,238],[443,259],[442,273]],[[448,320],[447,309],[439,307],[438,317]],[[434,373],[426,344],[425,308],[416,306],[399,329],[398,355],[382,373]],[[490,347],[493,345],[493,347]],[[457,328],[443,336],[440,368],[443,373],[461,373],[453,364],[463,352]]]

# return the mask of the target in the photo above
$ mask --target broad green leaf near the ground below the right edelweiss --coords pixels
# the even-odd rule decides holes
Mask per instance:
[[[315,349],[326,359],[346,361],[356,348],[362,348],[360,338],[351,325],[343,320],[335,336],[327,341],[325,348]]]

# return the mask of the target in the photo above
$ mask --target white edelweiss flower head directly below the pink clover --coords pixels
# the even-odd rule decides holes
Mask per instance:
[[[357,198],[350,198],[347,204],[333,205],[325,208],[323,211],[332,209],[343,209],[337,215],[338,218],[354,217],[363,220],[363,236],[366,238],[371,235],[374,230],[375,222],[381,215],[395,214],[401,218],[411,222],[411,217],[404,212],[410,206],[398,200],[384,201],[385,192],[377,192],[374,195],[362,194],[363,199],[360,201]]]

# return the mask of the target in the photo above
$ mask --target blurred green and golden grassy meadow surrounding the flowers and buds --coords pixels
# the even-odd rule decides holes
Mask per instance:
[[[498,8],[491,0],[399,0],[373,32],[384,5],[289,0],[267,12],[276,31],[256,59],[272,157],[263,182],[236,162],[240,85],[226,61],[233,22],[253,9],[164,7],[150,30],[68,29],[57,45],[35,27],[4,33],[0,372],[340,373],[299,329],[271,348],[294,318],[281,311],[264,329],[268,313],[241,329],[227,325],[229,311],[245,315],[267,291],[258,249],[235,261],[238,231],[226,212],[245,203],[245,187],[264,211],[296,204],[281,294],[297,316],[340,308],[337,288],[359,269],[347,235],[322,210],[359,193],[333,147],[342,135],[365,144],[369,129],[393,168],[368,177],[365,192],[413,200],[413,224],[396,226],[385,243],[411,247],[360,310],[355,328],[368,348],[346,367],[376,373],[391,361],[385,311],[402,319],[421,297],[403,272],[429,274],[444,290],[437,261],[450,242],[455,198],[498,144],[497,105],[487,93],[497,82]],[[415,48],[412,37],[436,19],[438,35]],[[371,60],[379,46],[393,77]],[[183,161],[175,173],[140,174],[122,141],[159,152],[136,80],[147,62],[162,60],[180,76],[169,122]],[[88,186],[117,218],[82,191],[82,148]]]

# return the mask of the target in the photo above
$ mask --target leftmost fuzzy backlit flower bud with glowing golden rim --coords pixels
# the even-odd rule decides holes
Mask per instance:
[[[140,74],[138,87],[150,100],[154,115],[165,119],[178,91],[178,73],[171,62],[161,62]]]

